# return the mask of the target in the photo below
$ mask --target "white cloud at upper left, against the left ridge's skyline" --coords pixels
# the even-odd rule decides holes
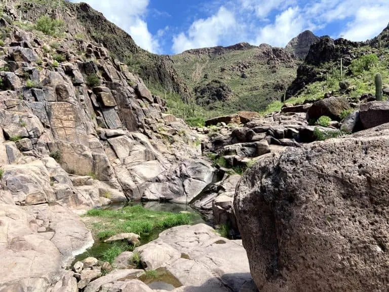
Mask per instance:
[[[71,1],[79,2],[79,0]],[[128,0],[83,0],[83,2],[88,3],[103,13],[109,21],[127,31],[141,48],[153,53],[161,52],[158,39],[150,33],[144,20],[149,0],[131,0],[131,3]]]

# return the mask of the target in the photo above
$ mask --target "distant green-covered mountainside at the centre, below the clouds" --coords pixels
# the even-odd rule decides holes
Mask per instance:
[[[216,113],[264,109],[284,94],[298,64],[285,49],[247,43],[188,50],[172,59],[197,103]],[[222,84],[217,97],[212,89],[215,82]]]

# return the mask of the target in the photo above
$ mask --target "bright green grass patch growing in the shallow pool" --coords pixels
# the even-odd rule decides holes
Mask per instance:
[[[86,216],[99,217],[101,224],[92,225],[92,233],[99,239],[106,239],[119,233],[133,232],[146,240],[148,235],[165,229],[190,225],[194,214],[152,211],[141,205],[124,207],[121,210],[89,210]],[[142,237],[144,235],[144,238]]]

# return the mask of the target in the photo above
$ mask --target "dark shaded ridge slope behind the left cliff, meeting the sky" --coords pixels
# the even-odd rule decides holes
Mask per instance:
[[[16,1],[17,18],[35,22],[41,15],[55,15],[67,23],[67,30],[80,35],[87,41],[103,44],[111,55],[128,63],[136,60],[132,70],[136,71],[147,83],[161,84],[167,89],[179,93],[182,98],[189,98],[185,83],[178,77],[169,56],[151,54],[138,47],[131,36],[124,30],[109,22],[102,13],[86,3],[71,3],[67,0],[47,2],[43,0]],[[79,37],[80,37],[79,36]]]

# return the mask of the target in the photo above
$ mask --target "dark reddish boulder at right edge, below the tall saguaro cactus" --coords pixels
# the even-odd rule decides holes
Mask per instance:
[[[389,101],[370,101],[361,104],[360,119],[364,129],[389,122]]]

